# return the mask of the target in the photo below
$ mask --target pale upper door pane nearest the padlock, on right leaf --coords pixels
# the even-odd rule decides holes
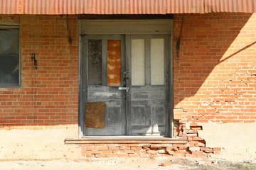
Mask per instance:
[[[132,40],[132,85],[145,85],[144,39]]]

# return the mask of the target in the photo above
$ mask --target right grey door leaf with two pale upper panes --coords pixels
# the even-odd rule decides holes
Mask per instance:
[[[127,35],[127,133],[168,135],[168,35]]]

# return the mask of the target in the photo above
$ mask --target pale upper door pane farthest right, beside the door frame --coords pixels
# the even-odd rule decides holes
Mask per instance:
[[[151,85],[164,84],[164,39],[150,40]]]

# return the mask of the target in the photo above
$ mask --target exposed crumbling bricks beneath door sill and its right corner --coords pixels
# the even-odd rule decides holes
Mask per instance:
[[[206,141],[198,137],[202,127],[191,123],[188,130],[184,123],[175,121],[174,135],[186,138],[187,144],[82,144],[82,157],[188,157],[207,158],[210,154],[220,154],[220,148],[206,147]]]

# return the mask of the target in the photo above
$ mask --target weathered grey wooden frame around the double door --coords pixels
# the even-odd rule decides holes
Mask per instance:
[[[167,20],[80,20],[79,21],[79,101],[78,101],[78,137],[85,137],[85,103],[82,98],[87,95],[86,79],[82,72],[86,67],[84,49],[86,43],[82,40],[85,34],[167,34],[169,38],[169,137],[174,137],[174,54],[173,54],[173,21]],[[127,43],[127,38],[125,38]],[[127,60],[127,57],[125,57]],[[127,62],[127,61],[126,61]],[[128,95],[128,94],[127,94]],[[127,107],[127,105],[126,105]],[[127,109],[127,108],[126,108]]]

